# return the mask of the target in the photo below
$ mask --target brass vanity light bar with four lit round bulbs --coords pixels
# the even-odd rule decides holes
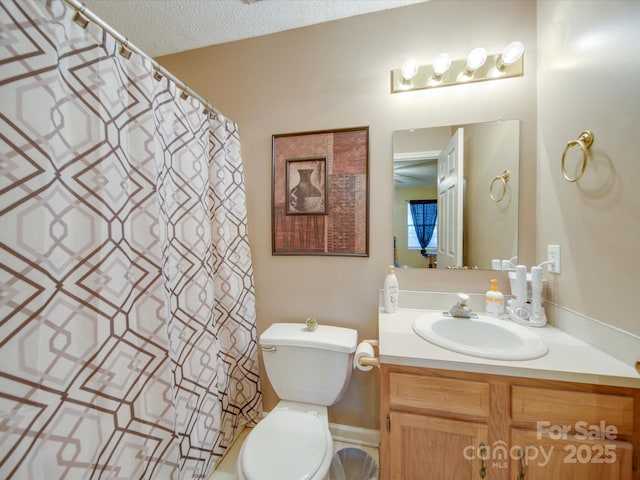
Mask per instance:
[[[458,60],[441,53],[431,65],[420,65],[415,59],[409,59],[401,68],[391,71],[391,93],[520,77],[523,67],[521,42],[511,42],[502,52],[491,55],[484,48],[474,48],[467,58]]]

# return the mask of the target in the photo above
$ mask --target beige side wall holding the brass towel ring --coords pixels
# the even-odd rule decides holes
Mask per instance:
[[[561,246],[550,298],[640,335],[640,2],[538,3],[538,256]],[[595,141],[577,183],[566,143]],[[567,155],[575,166],[581,154]],[[637,353],[637,352],[636,352]]]

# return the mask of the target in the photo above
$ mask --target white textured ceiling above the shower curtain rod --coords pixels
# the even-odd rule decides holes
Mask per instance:
[[[428,0],[80,1],[157,57]]]

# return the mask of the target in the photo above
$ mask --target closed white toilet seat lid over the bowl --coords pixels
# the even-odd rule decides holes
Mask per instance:
[[[248,480],[306,480],[327,453],[327,428],[310,413],[276,410],[247,436],[242,470]]]

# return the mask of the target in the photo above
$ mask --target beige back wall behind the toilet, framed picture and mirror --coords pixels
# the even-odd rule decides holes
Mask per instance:
[[[377,290],[393,260],[391,132],[411,127],[521,121],[521,256],[535,256],[536,4],[439,1],[353,17],[159,61],[240,126],[257,296],[258,333],[273,322],[320,322],[377,336]],[[409,56],[463,58],[482,45],[526,46],[523,77],[391,95],[390,74]],[[370,256],[271,255],[271,136],[370,127]],[[408,270],[403,289],[484,292],[491,272]],[[264,376],[263,376],[264,378]],[[264,406],[276,402],[263,382]],[[330,420],[378,428],[375,372],[356,371]]]

